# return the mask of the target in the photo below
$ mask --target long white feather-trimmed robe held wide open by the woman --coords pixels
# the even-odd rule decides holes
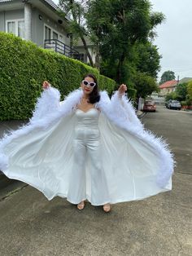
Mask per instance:
[[[109,99],[100,92],[97,108],[101,134],[101,159],[110,202],[141,200],[172,189],[174,160],[168,144],[144,129],[131,102],[116,92]],[[72,170],[75,109],[82,90],[59,102],[59,90],[50,87],[37,100],[33,117],[0,140],[0,170],[41,191],[48,200],[68,195]],[[89,159],[86,194],[91,198]]]

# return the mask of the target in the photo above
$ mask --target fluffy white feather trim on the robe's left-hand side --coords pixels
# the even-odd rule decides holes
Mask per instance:
[[[58,121],[59,118],[72,113],[74,106],[79,103],[81,96],[81,89],[74,90],[59,105],[59,91],[51,87],[50,89],[44,90],[41,93],[41,97],[37,99],[37,106],[30,121],[26,125],[20,126],[17,130],[11,130],[2,136],[0,140],[0,170],[6,170],[8,168],[8,158],[3,152],[3,148],[12,139],[19,138],[20,135],[26,135],[36,128],[46,129],[53,122]],[[49,112],[47,112],[46,104],[49,104]]]

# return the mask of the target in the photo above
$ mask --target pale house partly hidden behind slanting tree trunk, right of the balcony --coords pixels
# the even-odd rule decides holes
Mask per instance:
[[[92,60],[95,63],[95,56],[96,56],[95,44],[88,37],[85,38],[85,42],[88,47],[89,54],[91,55]],[[79,52],[79,60],[85,63],[89,63],[89,58],[86,55],[85,47],[83,45],[81,38],[79,38],[77,41],[74,40],[73,46],[74,46],[74,49]]]

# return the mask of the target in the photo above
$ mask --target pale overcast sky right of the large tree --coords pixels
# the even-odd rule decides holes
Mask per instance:
[[[53,0],[58,4],[59,0]],[[167,70],[176,78],[192,77],[192,0],[150,0],[152,11],[166,16],[163,24],[156,27],[154,44],[162,55],[159,77]]]

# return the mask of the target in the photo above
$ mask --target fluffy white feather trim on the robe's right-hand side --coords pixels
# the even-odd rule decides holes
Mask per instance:
[[[164,188],[172,176],[173,168],[176,166],[176,161],[174,161],[174,156],[169,149],[168,143],[162,137],[159,138],[153,134],[151,130],[144,128],[141,121],[137,118],[130,99],[127,99],[125,96],[120,99],[118,92],[116,92],[112,96],[111,107],[109,107],[108,98],[107,93],[102,92],[98,107],[116,126],[128,130],[133,136],[154,148],[154,152],[159,156],[157,183],[160,187]]]

